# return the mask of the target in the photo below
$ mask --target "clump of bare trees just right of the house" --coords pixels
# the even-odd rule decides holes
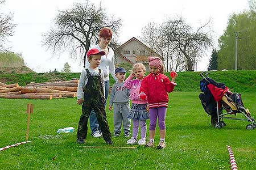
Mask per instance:
[[[148,24],[142,35],[142,41],[163,56],[167,71],[192,71],[205,49],[213,45],[209,22],[194,31],[181,17],[168,19],[159,26]]]

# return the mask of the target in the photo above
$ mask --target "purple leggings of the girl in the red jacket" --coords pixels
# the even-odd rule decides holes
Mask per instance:
[[[157,118],[159,129],[166,129],[166,112],[166,107],[150,108],[150,130],[155,130]]]

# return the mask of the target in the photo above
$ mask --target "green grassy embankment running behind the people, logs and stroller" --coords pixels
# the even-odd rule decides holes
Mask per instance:
[[[202,79],[201,72],[178,73],[175,91],[199,92],[199,82]],[[126,77],[129,74],[126,74]],[[170,73],[166,73],[170,76]],[[0,74],[0,82],[6,84],[19,83],[26,86],[30,82],[49,82],[79,79],[80,73],[27,73],[27,74]],[[233,92],[256,92],[256,71],[214,71],[209,74],[217,82],[223,82]],[[114,83],[110,78],[110,85]]]

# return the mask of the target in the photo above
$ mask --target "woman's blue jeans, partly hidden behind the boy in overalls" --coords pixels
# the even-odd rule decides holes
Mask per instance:
[[[109,96],[109,80],[105,81],[105,106],[106,106],[106,101],[108,100],[108,96]],[[94,112],[94,110],[92,110],[92,112],[90,112],[90,130],[92,130],[92,135],[96,132],[100,132],[100,126],[98,125],[98,120],[96,117],[96,114]]]

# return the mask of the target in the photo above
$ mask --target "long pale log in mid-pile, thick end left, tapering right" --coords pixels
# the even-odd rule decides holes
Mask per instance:
[[[41,87],[21,87],[22,94],[27,93],[73,93],[70,91],[61,91],[61,90],[52,90],[49,88],[41,88]]]

